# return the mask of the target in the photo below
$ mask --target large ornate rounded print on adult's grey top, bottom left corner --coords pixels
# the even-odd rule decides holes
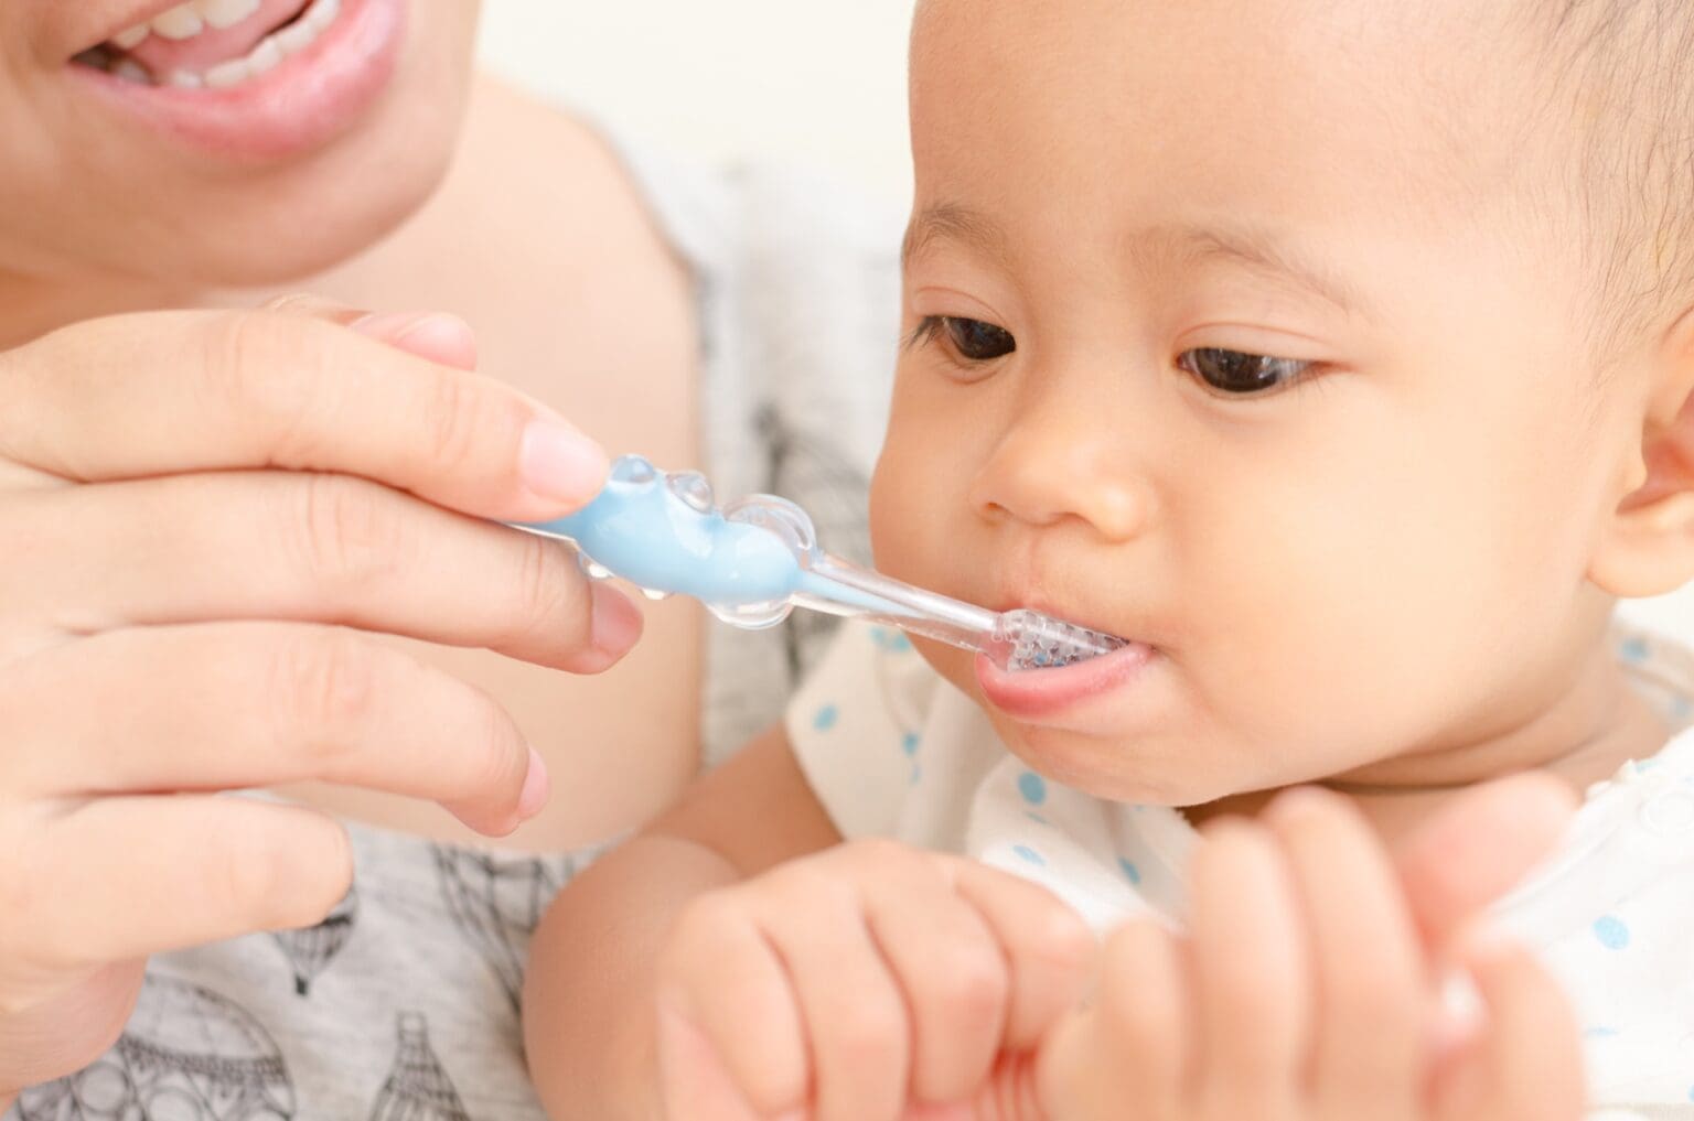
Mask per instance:
[[[295,1089],[271,1035],[210,989],[149,975],[119,1041],[24,1091],[19,1121],[286,1121]]]

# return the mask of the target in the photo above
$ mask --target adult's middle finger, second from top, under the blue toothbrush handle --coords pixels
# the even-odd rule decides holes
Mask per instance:
[[[42,630],[288,618],[488,647],[596,672],[640,613],[591,584],[559,542],[442,510],[366,479],[217,472],[12,498],[0,557]]]

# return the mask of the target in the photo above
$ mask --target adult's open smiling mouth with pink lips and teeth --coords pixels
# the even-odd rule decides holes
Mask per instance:
[[[220,156],[281,159],[351,127],[386,86],[407,0],[139,5],[71,71],[142,124]]]

